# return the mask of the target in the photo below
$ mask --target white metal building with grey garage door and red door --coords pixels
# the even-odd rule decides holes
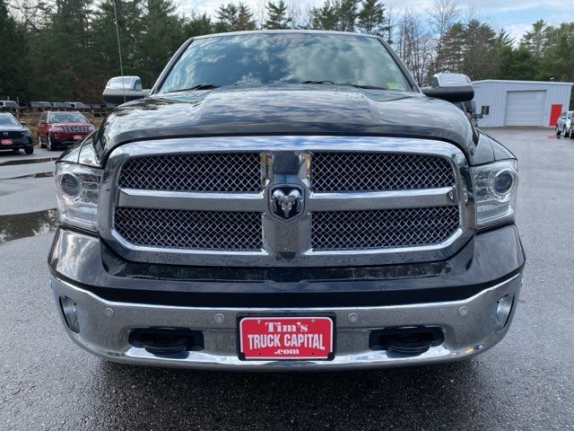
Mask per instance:
[[[569,110],[572,83],[539,81],[474,81],[476,109],[483,113],[481,128],[503,126],[554,127]]]

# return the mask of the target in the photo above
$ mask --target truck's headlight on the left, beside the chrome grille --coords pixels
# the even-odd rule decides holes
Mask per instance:
[[[75,163],[57,163],[57,209],[61,223],[96,232],[101,170]]]

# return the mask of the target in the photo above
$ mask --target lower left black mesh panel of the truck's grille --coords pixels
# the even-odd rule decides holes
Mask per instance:
[[[118,207],[115,225],[127,242],[161,249],[256,251],[262,247],[257,212]]]

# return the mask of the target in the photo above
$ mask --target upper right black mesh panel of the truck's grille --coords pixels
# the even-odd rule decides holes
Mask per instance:
[[[316,153],[315,192],[435,189],[455,184],[448,159],[427,154]]]

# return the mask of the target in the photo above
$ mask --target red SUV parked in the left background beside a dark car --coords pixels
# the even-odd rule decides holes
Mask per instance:
[[[39,119],[38,143],[40,148],[48,146],[48,150],[56,150],[75,144],[94,130],[91,122],[77,110],[48,110]]]

